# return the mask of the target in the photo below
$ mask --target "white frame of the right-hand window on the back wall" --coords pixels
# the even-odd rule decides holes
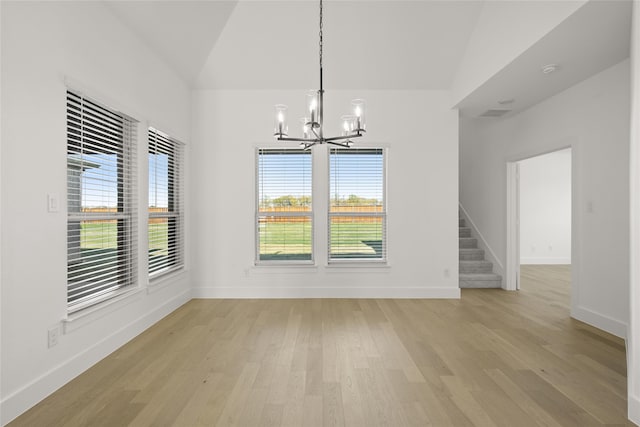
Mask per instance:
[[[382,154],[382,210],[380,212],[331,212],[331,156],[334,152],[357,152],[358,150],[379,150]],[[388,149],[383,146],[364,146],[351,148],[329,147],[327,150],[327,264],[328,265],[386,265],[389,262],[388,212],[387,212],[387,159]],[[339,217],[379,217],[382,221],[381,257],[333,258],[331,255],[331,220]]]

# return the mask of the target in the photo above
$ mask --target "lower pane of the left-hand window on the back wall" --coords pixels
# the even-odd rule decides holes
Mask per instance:
[[[258,234],[261,261],[312,259],[310,216],[260,216]]]

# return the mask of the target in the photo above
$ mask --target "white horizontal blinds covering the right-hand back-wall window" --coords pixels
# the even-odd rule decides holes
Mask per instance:
[[[386,260],[381,148],[329,150],[329,260]]]

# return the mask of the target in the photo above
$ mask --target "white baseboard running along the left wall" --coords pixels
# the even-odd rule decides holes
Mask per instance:
[[[191,290],[176,295],[160,307],[139,317],[91,347],[36,378],[0,402],[0,424],[11,422],[54,391],[113,353],[154,323],[167,316],[191,299]]]

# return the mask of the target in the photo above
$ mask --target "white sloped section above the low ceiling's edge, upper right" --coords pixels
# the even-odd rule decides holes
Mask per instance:
[[[586,0],[483,2],[453,81],[453,105],[482,86],[585,3]]]

